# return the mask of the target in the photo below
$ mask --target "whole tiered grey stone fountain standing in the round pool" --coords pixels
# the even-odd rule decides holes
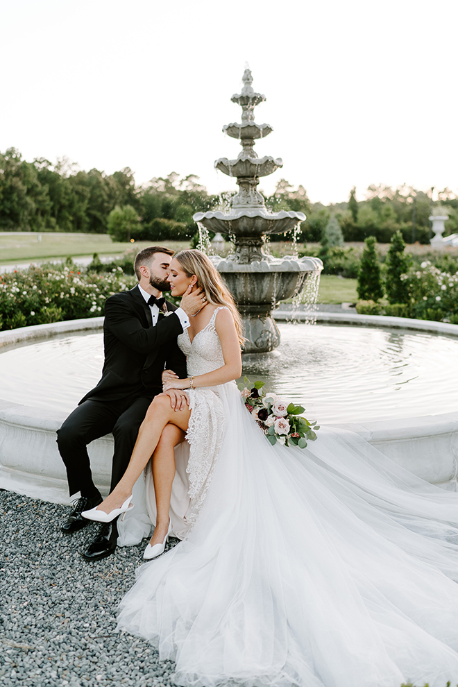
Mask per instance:
[[[241,124],[226,124],[223,132],[241,144],[237,160],[220,158],[214,166],[228,176],[236,177],[239,192],[232,196],[229,212],[197,212],[194,221],[214,232],[229,234],[235,253],[214,264],[237,301],[244,323],[244,353],[267,353],[280,343],[280,332],[272,318],[272,309],[280,300],[298,296],[312,275],[316,277],[323,263],[316,257],[294,256],[276,259],[264,251],[266,234],[292,232],[305,220],[303,212],[270,212],[257,191],[260,177],[282,167],[280,158],[264,155],[258,158],[255,141],[271,133],[269,124],[257,124],[254,108],[266,98],[255,93],[253,76],[246,69],[244,87],[232,96],[241,105]]]

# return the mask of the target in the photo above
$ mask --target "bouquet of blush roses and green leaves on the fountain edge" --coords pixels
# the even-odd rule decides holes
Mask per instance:
[[[264,392],[262,387],[265,382],[255,382],[251,389],[246,386],[247,384],[251,387],[251,382],[246,377],[244,377],[244,384],[239,384],[245,407],[255,418],[257,425],[261,427],[272,446],[279,441],[284,446],[305,448],[307,439],[309,441],[316,439],[315,432],[320,427],[316,421],[309,422],[307,418],[300,415],[305,408],[288,403],[275,393]]]

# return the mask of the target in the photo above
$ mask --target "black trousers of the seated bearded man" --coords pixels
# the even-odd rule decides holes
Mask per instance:
[[[85,400],[58,430],[58,447],[67,468],[70,496],[80,491],[90,498],[98,493],[92,481],[87,444],[113,433],[114,454],[110,491],[124,475],[140,425],[153,400],[127,396],[117,400]]]

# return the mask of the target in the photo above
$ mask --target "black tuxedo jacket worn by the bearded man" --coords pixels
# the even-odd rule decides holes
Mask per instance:
[[[169,312],[176,305],[167,301]],[[136,286],[105,302],[102,378],[80,400],[117,400],[126,396],[155,396],[162,391],[162,371],[171,369],[185,378],[186,358],[176,337],[183,332],[177,315],[160,313],[153,327],[151,309]]]

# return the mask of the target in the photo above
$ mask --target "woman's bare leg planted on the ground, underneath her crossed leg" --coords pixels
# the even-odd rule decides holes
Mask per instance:
[[[160,441],[153,453],[152,469],[158,516],[150,541],[151,546],[162,543],[169,529],[170,496],[173,477],[175,477],[175,452],[173,449],[184,439],[185,432],[180,430],[180,427],[169,423],[162,430]]]

